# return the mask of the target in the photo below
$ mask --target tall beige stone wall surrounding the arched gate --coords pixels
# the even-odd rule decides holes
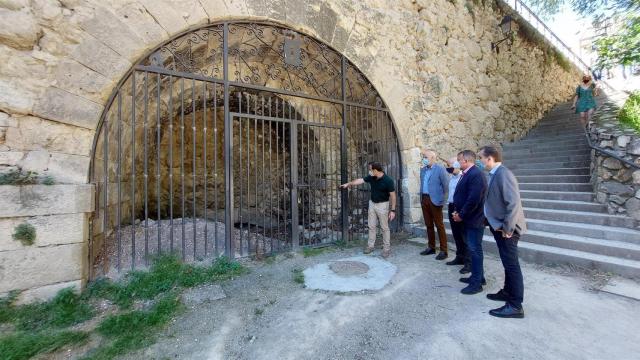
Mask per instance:
[[[0,1],[0,168],[37,171],[83,191],[100,115],[141,56],[190,27],[266,20],[331,45],[376,86],[401,144],[404,218],[417,222],[419,147],[445,159],[463,148],[518,139],[572,94],[577,71],[567,72],[524,38],[517,36],[510,51],[491,50],[502,37],[503,15],[494,1],[468,0]],[[84,199],[82,211],[71,213],[90,211],[93,197]],[[20,216],[35,215],[5,212],[2,221]],[[86,219],[75,221],[86,242]],[[66,231],[48,229],[52,238]],[[0,251],[14,258],[22,250]],[[30,259],[21,262],[25,271],[47,261]],[[52,276],[49,283],[77,279]],[[1,283],[5,290],[43,285]]]

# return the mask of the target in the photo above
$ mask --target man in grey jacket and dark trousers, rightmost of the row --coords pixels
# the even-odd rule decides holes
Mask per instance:
[[[504,318],[523,318],[524,282],[518,262],[518,240],[527,230],[527,223],[520,201],[518,181],[502,165],[502,154],[498,148],[484,146],[479,155],[480,161],[489,170],[484,214],[504,267],[503,288],[495,294],[488,294],[487,298],[504,301],[505,305],[489,311],[489,314]]]

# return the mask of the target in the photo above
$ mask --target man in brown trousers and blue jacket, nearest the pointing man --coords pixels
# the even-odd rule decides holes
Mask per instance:
[[[431,255],[436,252],[436,234],[440,241],[440,253],[436,260],[447,258],[447,233],[444,228],[442,207],[446,200],[445,194],[449,186],[449,178],[444,166],[436,164],[436,153],[432,150],[422,150],[422,167],[420,169],[420,203],[422,216],[427,227],[427,248],[420,255]]]

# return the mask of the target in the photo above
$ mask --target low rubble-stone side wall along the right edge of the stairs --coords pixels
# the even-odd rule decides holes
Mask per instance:
[[[592,145],[640,166],[640,134],[618,121],[619,105],[605,97],[589,128]],[[640,221],[640,170],[597,150],[591,151],[591,183],[596,201],[610,214]]]

